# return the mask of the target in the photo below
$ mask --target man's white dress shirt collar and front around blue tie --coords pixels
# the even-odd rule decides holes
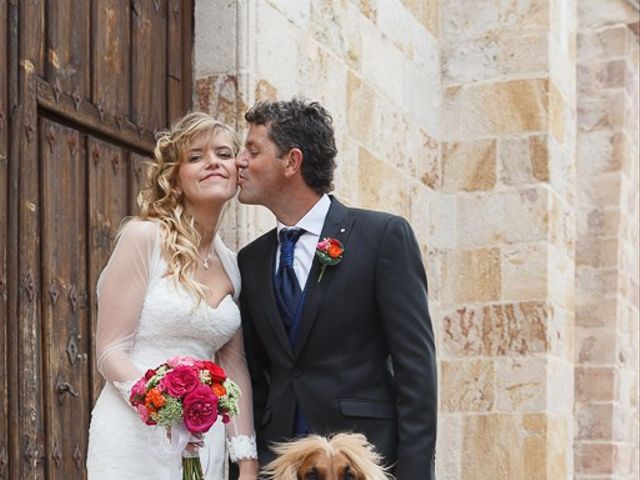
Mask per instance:
[[[283,228],[303,228],[305,232],[300,236],[300,239],[296,243],[296,249],[293,255],[293,271],[296,272],[298,283],[300,284],[300,290],[304,290],[304,286],[309,278],[309,271],[313,264],[313,257],[316,254],[316,245],[320,241],[320,234],[322,233],[322,227],[324,220],[329,212],[331,206],[331,199],[328,195],[324,194],[320,197],[320,200],[307,212],[307,214],[300,219],[298,223],[293,226],[284,225],[278,221],[278,249],[276,251],[276,272],[280,266],[280,230]]]

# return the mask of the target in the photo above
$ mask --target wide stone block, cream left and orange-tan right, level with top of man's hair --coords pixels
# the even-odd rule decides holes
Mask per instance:
[[[540,132],[547,128],[546,79],[448,87],[442,103],[445,139]]]

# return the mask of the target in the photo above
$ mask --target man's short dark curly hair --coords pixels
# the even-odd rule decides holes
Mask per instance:
[[[292,148],[302,151],[302,178],[319,194],[333,190],[336,142],[333,119],[318,102],[293,98],[284,102],[258,102],[244,116],[254,125],[266,125],[278,156]]]

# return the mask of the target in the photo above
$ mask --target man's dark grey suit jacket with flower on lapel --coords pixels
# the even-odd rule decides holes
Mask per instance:
[[[415,235],[401,217],[332,198],[324,237],[344,257],[320,283],[314,260],[294,349],[274,297],[275,229],[238,254],[260,461],[291,437],[298,401],[314,432],[364,433],[399,480],[431,480],[436,358]]]

